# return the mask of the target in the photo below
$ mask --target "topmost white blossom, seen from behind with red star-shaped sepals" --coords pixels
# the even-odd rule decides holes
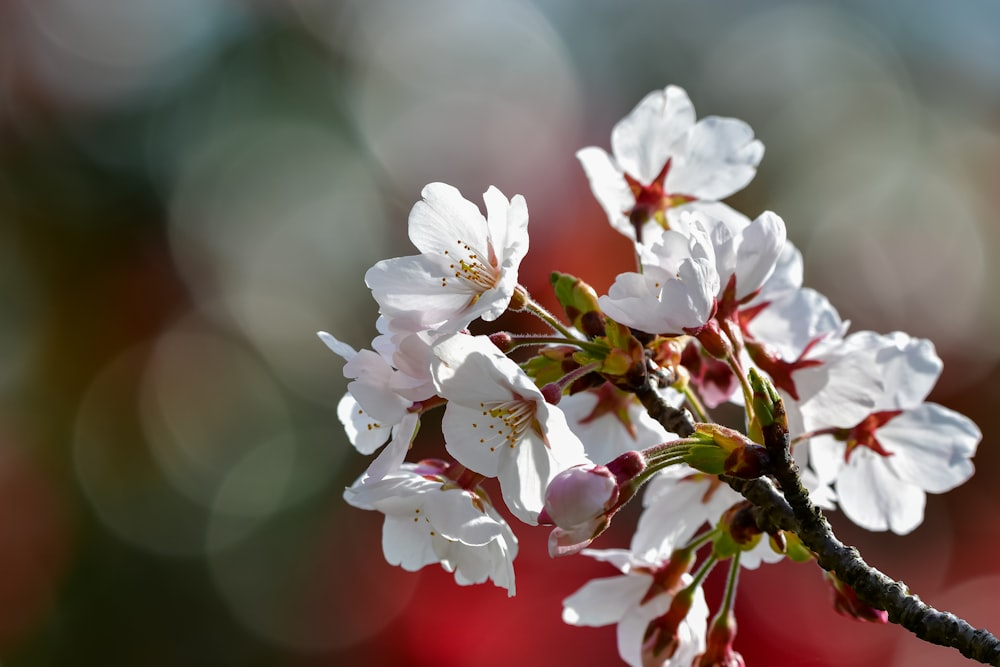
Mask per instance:
[[[764,146],[743,121],[710,116],[696,123],[687,93],[668,86],[615,125],[611,152],[589,147],[577,158],[611,225],[633,240],[639,229],[648,244],[673,224],[677,207],[706,202],[719,210],[717,200],[753,179]]]

